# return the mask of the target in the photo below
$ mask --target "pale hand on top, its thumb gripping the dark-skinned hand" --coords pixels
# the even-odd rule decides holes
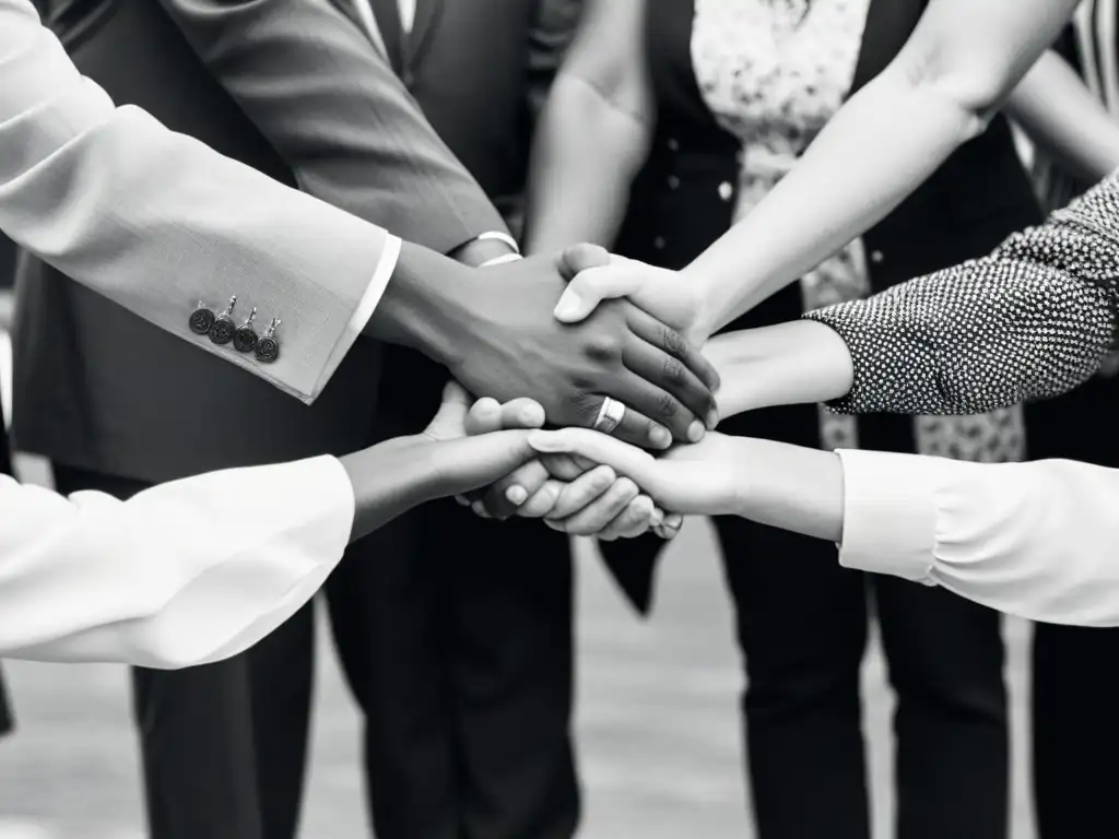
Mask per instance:
[[[695,283],[684,282],[675,271],[617,255],[609,265],[580,272],[564,290],[554,314],[564,323],[577,323],[603,301],[615,298],[629,299],[693,346],[703,347],[713,331]]]

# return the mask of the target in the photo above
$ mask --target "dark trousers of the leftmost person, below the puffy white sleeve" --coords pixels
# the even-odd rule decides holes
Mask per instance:
[[[60,492],[93,489],[121,499],[147,486],[66,466],[55,466],[55,482]],[[184,670],[132,669],[152,839],[295,835],[312,618],[309,604],[252,650],[226,661]]]

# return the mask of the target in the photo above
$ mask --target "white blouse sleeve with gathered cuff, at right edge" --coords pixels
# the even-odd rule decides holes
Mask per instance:
[[[1035,621],[1119,626],[1119,470],[839,455],[843,565]]]

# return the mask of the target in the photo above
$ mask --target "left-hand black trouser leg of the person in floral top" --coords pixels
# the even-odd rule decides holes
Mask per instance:
[[[715,526],[747,676],[758,836],[867,839],[864,578],[827,543],[737,518]]]

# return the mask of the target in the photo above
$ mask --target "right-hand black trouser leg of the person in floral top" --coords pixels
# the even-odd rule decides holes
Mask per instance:
[[[897,694],[899,839],[1004,839],[1009,726],[998,613],[942,588],[873,581]]]

